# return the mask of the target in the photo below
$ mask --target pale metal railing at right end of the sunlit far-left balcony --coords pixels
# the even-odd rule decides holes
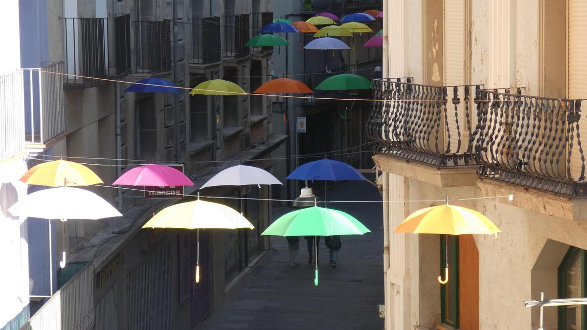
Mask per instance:
[[[46,143],[65,132],[63,110],[64,63],[25,71],[25,142]]]

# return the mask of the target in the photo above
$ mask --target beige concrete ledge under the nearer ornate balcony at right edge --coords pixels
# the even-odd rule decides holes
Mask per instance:
[[[531,188],[487,179],[479,179],[477,186],[483,197],[514,195],[512,201],[507,198],[497,198],[497,201],[502,204],[573,221],[587,220],[587,199],[584,198],[556,196]]]

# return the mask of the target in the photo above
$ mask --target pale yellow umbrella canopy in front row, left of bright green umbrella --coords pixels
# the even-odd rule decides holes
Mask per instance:
[[[228,206],[195,200],[164,208],[147,221],[143,228],[253,229],[255,227],[240,213]]]

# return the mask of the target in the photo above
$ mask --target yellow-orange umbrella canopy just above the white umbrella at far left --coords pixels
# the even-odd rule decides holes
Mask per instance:
[[[104,183],[86,166],[62,159],[33,166],[23,174],[20,180],[26,184],[49,187],[90,186]]]

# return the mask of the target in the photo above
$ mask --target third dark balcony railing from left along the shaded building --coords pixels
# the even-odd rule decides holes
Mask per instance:
[[[192,64],[209,64],[220,61],[220,17],[192,18]]]

